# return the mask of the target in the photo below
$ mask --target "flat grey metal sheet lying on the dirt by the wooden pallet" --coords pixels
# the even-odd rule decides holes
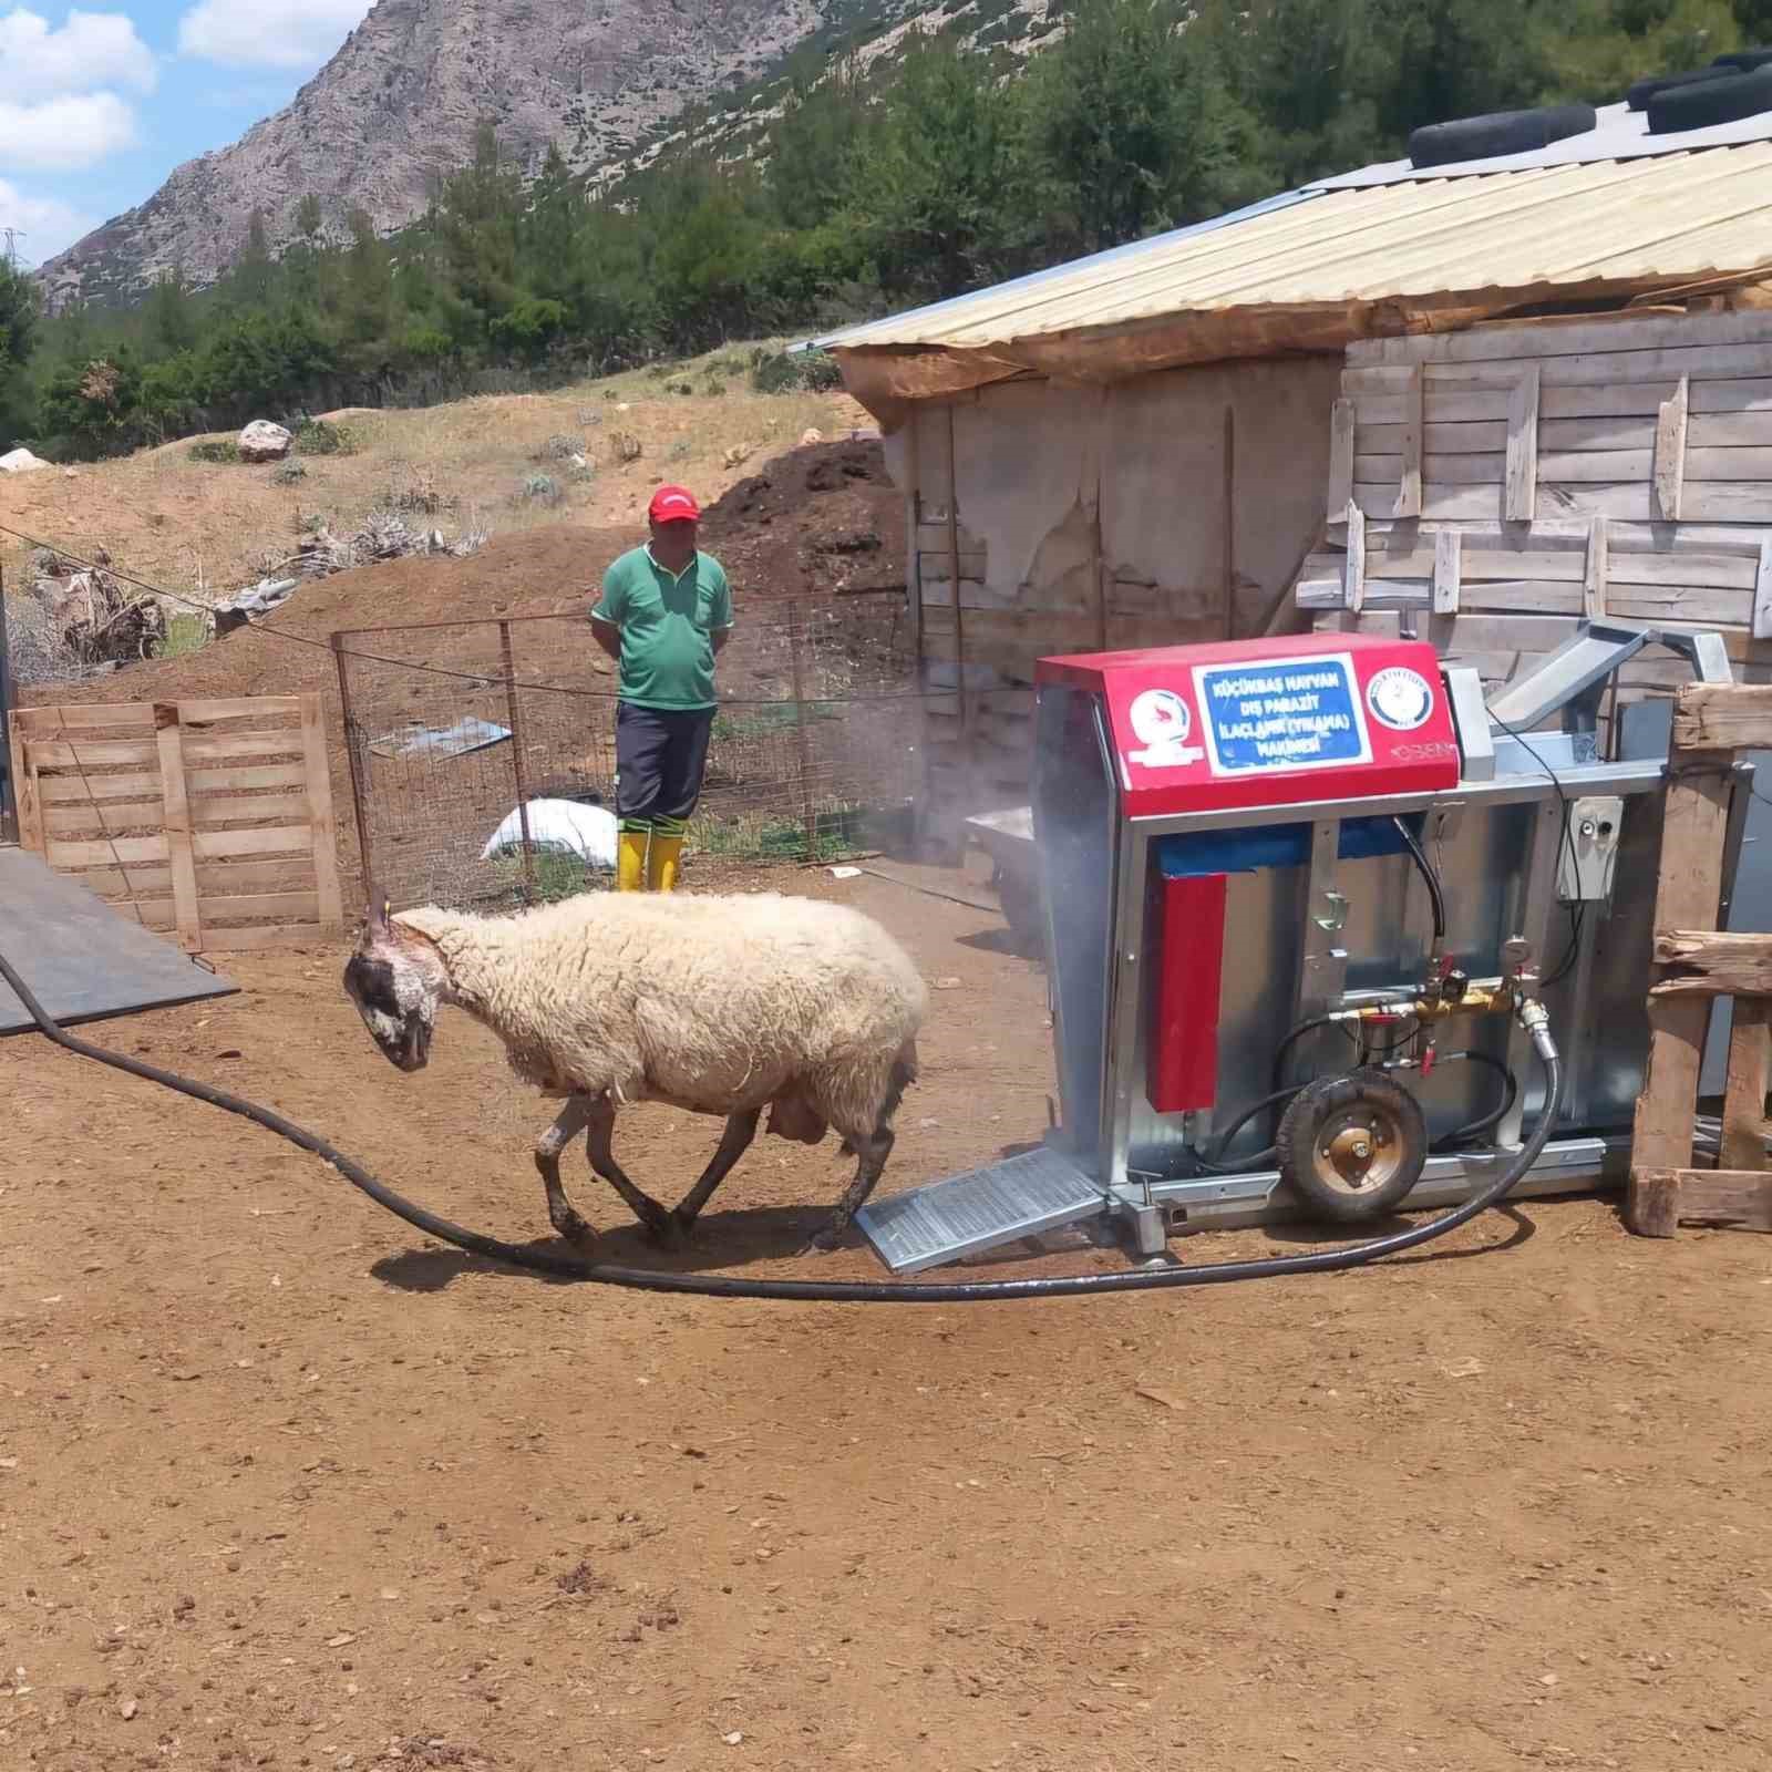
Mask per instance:
[[[239,991],[23,849],[0,849],[0,953],[62,1024]],[[35,1026],[0,983],[0,1035]]]

